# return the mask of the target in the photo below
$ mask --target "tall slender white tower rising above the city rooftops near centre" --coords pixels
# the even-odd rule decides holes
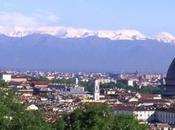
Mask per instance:
[[[94,85],[94,100],[99,101],[100,100],[100,82],[99,80],[95,80]]]

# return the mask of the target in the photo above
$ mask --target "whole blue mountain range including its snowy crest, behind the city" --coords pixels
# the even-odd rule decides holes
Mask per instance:
[[[136,30],[0,30],[1,68],[84,72],[166,72],[175,37]],[[59,31],[58,31],[59,30]]]

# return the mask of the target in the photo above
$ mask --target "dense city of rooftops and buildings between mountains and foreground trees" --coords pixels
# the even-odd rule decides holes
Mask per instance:
[[[15,91],[26,110],[55,123],[85,104],[106,104],[115,115],[134,115],[149,129],[174,128],[174,100],[162,97],[166,74],[1,71],[1,86]]]

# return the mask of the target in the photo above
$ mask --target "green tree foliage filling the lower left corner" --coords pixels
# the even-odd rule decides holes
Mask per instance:
[[[42,117],[39,111],[27,111],[12,90],[0,88],[1,130],[50,130]]]

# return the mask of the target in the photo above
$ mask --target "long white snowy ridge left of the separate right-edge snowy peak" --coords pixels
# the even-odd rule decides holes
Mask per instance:
[[[0,30],[1,31],[1,30]],[[60,38],[85,38],[97,36],[99,38],[109,38],[111,40],[144,40],[146,36],[137,30],[88,30],[65,27],[40,27],[22,28],[15,27],[8,32],[1,33],[10,37],[27,36],[32,33],[49,34]]]

